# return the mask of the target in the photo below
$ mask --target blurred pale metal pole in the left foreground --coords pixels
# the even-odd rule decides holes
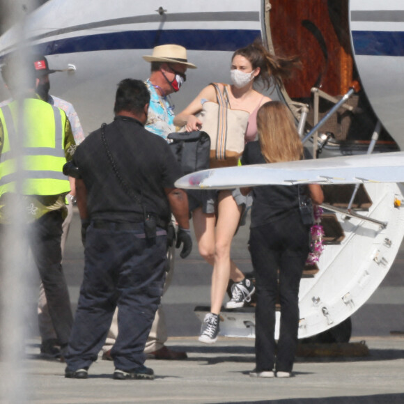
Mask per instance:
[[[29,372],[25,363],[25,340],[28,334],[28,322],[26,321],[26,299],[29,293],[29,285],[32,283],[32,268],[27,259],[28,231],[23,212],[26,210],[22,201],[22,183],[24,181],[24,165],[22,162],[22,139],[24,137],[24,103],[22,94],[23,83],[30,74],[27,68],[27,46],[31,45],[26,38],[26,17],[38,7],[38,0],[13,0],[2,3],[2,17],[8,19],[8,25],[14,25],[15,47],[10,49],[15,58],[20,61],[20,68],[15,71],[16,81],[20,88],[15,91],[13,98],[17,100],[17,117],[15,125],[15,153],[16,161],[16,185],[15,199],[13,203],[4,206],[7,209],[6,216],[11,225],[4,225],[0,245],[0,327],[4,331],[0,338],[0,402],[24,404],[29,402]],[[1,173],[0,173],[1,175]],[[10,196],[13,194],[10,193]],[[11,198],[10,198],[11,199]],[[7,230],[6,230],[7,228]],[[36,290],[38,293],[38,290]]]

